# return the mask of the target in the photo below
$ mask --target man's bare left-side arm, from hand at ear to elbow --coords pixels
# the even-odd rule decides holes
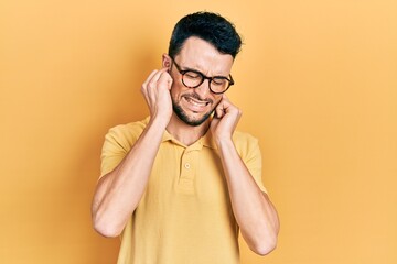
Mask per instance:
[[[92,207],[93,222],[95,230],[105,237],[117,237],[122,232],[144,194],[163,132],[172,116],[171,85],[167,68],[149,75],[141,91],[149,106],[151,124],[146,127],[117,167],[98,182]]]

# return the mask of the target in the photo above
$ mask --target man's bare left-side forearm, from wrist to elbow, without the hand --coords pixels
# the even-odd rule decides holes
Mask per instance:
[[[93,200],[94,228],[117,237],[137,208],[159,151],[165,128],[150,122],[121,163],[98,183]]]

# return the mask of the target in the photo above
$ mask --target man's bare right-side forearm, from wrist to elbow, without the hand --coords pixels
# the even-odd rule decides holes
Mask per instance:
[[[277,243],[279,220],[276,209],[256,184],[233,141],[218,142],[218,150],[242,234],[253,251],[267,254]]]

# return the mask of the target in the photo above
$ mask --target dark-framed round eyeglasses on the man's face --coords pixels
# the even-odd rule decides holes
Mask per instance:
[[[230,86],[234,85],[232,75],[230,79],[224,76],[207,77],[202,73],[193,69],[182,70],[181,67],[172,59],[175,64],[178,72],[182,75],[182,84],[187,88],[197,88],[204,80],[208,80],[210,90],[216,95],[225,92]]]

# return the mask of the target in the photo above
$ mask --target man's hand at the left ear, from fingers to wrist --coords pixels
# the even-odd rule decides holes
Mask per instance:
[[[159,119],[167,125],[172,116],[171,85],[172,78],[167,68],[153,70],[141,87],[148,103],[151,119]]]

